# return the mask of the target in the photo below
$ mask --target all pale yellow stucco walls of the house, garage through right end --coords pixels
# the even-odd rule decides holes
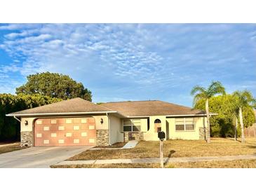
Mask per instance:
[[[110,144],[123,142],[123,120],[121,118],[112,115],[93,117],[95,118],[96,130],[110,131]],[[100,123],[101,118],[103,119],[103,123]],[[206,121],[206,118],[196,117],[194,131],[176,131],[175,118],[166,118],[166,116],[150,116],[149,130],[147,130],[147,118],[141,118],[141,131],[144,132],[144,139],[146,141],[159,141],[157,132],[155,132],[154,128],[154,121],[157,118],[161,121],[162,131],[166,132],[166,139],[199,139],[199,128],[206,125],[206,122],[203,123],[203,119]],[[32,131],[34,119],[36,118],[21,118],[20,131]],[[28,121],[28,125],[25,125],[25,121]]]

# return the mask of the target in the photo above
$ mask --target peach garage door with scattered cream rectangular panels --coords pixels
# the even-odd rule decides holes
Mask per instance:
[[[34,121],[34,146],[95,144],[94,118],[39,118]]]

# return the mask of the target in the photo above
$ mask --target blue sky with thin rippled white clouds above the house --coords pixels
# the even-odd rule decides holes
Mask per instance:
[[[256,25],[1,24],[0,92],[43,71],[80,81],[93,102],[191,106],[191,88],[211,81],[256,96]]]

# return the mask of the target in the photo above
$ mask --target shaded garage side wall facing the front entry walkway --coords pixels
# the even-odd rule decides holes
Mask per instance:
[[[109,115],[109,126],[110,126],[110,144],[116,142],[123,142],[123,132],[122,132],[123,121],[121,118]]]

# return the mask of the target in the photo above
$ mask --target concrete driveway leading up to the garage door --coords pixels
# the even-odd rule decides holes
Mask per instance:
[[[37,146],[0,154],[0,167],[46,168],[92,146]]]

